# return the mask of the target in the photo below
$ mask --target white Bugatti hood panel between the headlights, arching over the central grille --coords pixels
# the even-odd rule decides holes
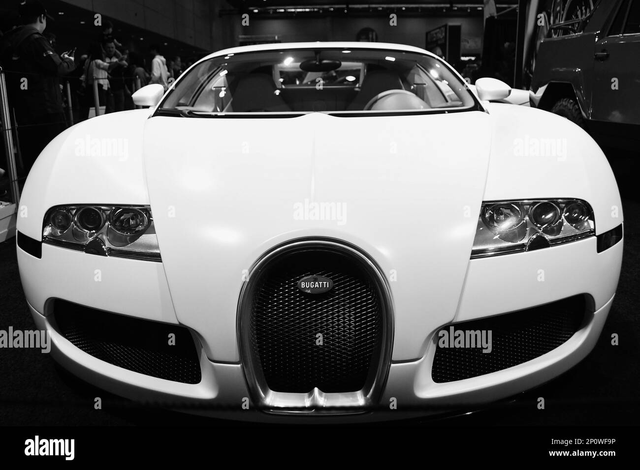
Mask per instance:
[[[420,357],[456,313],[491,136],[488,114],[474,111],[150,118],[143,162],[178,319],[211,359],[238,361],[238,295],[253,263],[288,240],[331,237],[388,274],[393,359]]]

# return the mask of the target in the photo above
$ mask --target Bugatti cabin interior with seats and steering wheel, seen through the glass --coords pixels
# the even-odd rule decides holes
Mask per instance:
[[[204,113],[397,111],[463,106],[449,82],[415,61],[307,59],[212,67],[177,109]],[[440,65],[436,65],[440,67]],[[448,73],[448,72],[447,72]]]

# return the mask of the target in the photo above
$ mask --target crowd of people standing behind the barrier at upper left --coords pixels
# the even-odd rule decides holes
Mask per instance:
[[[22,0],[18,10],[19,24],[0,36],[0,65],[10,114],[15,118],[19,146],[16,162],[22,178],[47,143],[71,123],[86,120],[95,104],[104,113],[134,109],[132,94],[136,90],[149,83],[161,84],[167,90],[186,68],[179,56],[166,61],[158,45],[148,49],[147,68],[147,54],[122,45],[109,21],[102,23],[86,50],[74,48],[59,53],[56,35],[45,32],[51,17],[40,0]],[[3,173],[6,176],[4,157],[0,159],[0,178]]]

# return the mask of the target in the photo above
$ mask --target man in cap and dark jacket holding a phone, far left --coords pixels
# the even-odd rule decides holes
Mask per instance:
[[[52,17],[40,1],[22,0],[18,10],[22,26],[4,36],[0,60],[18,125],[20,176],[26,176],[47,143],[67,127],[60,76],[72,72],[76,65],[73,54],[58,56],[42,35],[47,18]]]

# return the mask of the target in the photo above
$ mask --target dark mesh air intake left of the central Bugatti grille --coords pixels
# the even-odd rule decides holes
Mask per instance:
[[[58,332],[93,357],[159,379],[200,382],[198,352],[184,327],[61,300],[55,301],[53,314]],[[175,344],[170,345],[170,334],[175,334]]]

